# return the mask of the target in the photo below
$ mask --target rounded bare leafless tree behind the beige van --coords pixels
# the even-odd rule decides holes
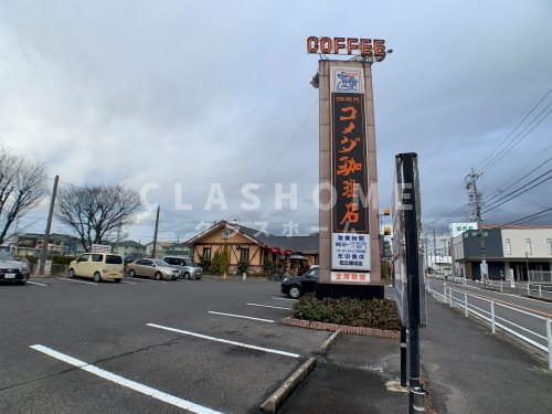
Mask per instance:
[[[56,219],[77,232],[85,250],[109,242],[142,205],[138,192],[124,185],[72,185],[60,190],[57,200]]]

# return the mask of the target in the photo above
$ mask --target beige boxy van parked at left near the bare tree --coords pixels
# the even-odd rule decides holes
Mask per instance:
[[[92,277],[99,283],[110,279],[119,283],[125,275],[123,256],[112,253],[84,253],[70,263],[67,277]]]

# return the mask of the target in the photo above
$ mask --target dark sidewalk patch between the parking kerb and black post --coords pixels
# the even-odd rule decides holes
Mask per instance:
[[[400,372],[397,340],[341,335],[278,414],[407,413]]]

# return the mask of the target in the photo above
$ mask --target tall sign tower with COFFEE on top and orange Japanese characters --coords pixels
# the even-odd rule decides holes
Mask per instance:
[[[307,52],[321,56],[311,79],[320,104],[317,296],[383,297],[372,64],[391,51],[383,40],[311,36]]]

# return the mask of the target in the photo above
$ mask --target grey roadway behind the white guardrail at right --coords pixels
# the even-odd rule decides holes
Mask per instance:
[[[429,280],[432,289],[444,295],[445,283],[443,280]],[[468,298],[468,311],[490,318],[491,302],[495,305],[495,320],[511,330],[510,333],[522,335],[539,348],[542,352],[548,350],[546,319],[552,319],[552,304],[522,297],[519,295],[502,294],[489,289],[481,289],[480,285],[461,285],[446,283],[447,301],[452,291],[453,304],[465,306],[466,294]],[[440,296],[443,298],[443,296]]]

